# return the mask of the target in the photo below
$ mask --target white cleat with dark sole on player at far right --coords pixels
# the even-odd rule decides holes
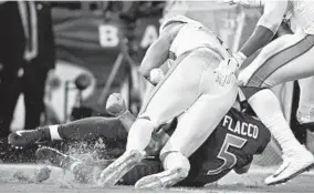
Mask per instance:
[[[279,170],[271,176],[266,177],[264,183],[266,185],[275,185],[285,183],[299,174],[308,171],[314,166],[314,156],[307,151],[303,150],[291,156],[283,156],[283,163]]]

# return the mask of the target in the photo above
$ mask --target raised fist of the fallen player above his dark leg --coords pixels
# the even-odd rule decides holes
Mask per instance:
[[[113,93],[109,95],[106,103],[106,111],[114,116],[118,116],[126,111],[126,104],[119,93]]]

